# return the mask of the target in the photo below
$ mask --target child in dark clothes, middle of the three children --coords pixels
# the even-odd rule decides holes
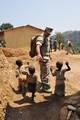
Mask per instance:
[[[27,89],[29,92],[32,93],[31,100],[34,102],[34,96],[35,96],[36,85],[37,85],[37,75],[35,74],[35,67],[33,65],[29,65],[28,67],[28,72],[26,74],[26,81],[27,81]],[[25,94],[26,94],[26,90],[23,96],[25,96]]]

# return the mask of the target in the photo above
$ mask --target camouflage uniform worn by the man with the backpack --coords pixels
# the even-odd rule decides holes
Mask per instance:
[[[43,34],[37,38],[36,44],[41,45],[40,78],[42,83],[48,84],[48,75],[50,73],[50,38],[44,38]]]

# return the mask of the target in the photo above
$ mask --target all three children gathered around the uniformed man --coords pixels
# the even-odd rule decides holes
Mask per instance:
[[[62,69],[63,63],[56,62],[56,69],[50,67],[52,76],[56,76],[56,84],[54,94],[60,97],[65,96],[65,72],[70,71],[69,63],[65,63],[67,68]],[[26,96],[27,91],[32,93],[31,100],[34,102],[37,80],[38,77],[35,73],[35,67],[27,62],[27,65],[23,65],[21,60],[16,60],[16,77],[18,79],[18,90],[22,93],[23,97]]]

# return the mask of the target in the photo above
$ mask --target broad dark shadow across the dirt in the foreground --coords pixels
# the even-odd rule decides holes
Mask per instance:
[[[46,96],[46,101],[31,103],[30,98],[15,101],[17,104],[29,102],[30,105],[11,107],[7,105],[5,120],[60,120],[59,112],[63,104],[80,104],[80,91],[65,98]]]

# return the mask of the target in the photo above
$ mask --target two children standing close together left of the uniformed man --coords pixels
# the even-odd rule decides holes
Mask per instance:
[[[21,60],[16,60],[16,77],[18,79],[18,90],[22,93],[23,97],[26,96],[26,92],[30,91],[32,93],[32,101],[34,101],[34,96],[36,92],[37,85],[37,75],[35,74],[35,67],[33,65],[23,65]]]

